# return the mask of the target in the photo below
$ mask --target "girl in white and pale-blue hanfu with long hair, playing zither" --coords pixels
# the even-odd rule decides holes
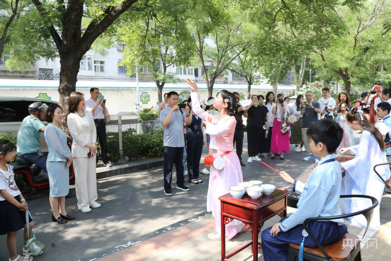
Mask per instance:
[[[380,226],[380,201],[384,191],[384,183],[373,171],[373,166],[385,163],[387,159],[381,133],[362,113],[357,107],[354,107],[346,116],[349,127],[354,131],[360,130],[362,134],[358,145],[340,150],[341,153],[350,150],[356,154],[354,159],[341,163],[346,171],[346,176],[342,180],[341,195],[364,194],[375,197],[379,201],[379,205],[373,211],[370,229],[376,230]],[[391,172],[388,165],[379,166],[376,170],[384,180],[390,179]],[[360,211],[371,205],[371,201],[364,198],[344,199],[342,203],[345,213]],[[352,225],[367,226],[363,215],[354,216],[349,220]]]

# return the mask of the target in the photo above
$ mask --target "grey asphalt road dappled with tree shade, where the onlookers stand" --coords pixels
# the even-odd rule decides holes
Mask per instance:
[[[246,140],[245,137],[243,161],[248,158]],[[283,161],[278,157],[262,160],[297,177],[310,165],[302,160],[304,156],[304,152],[291,152],[285,155]],[[242,170],[245,181],[258,179],[277,187],[286,185],[277,173],[259,162],[247,164]],[[204,180],[203,184],[189,185],[188,192],[173,189],[174,195],[171,197],[163,193],[161,167],[99,180],[98,202],[102,203],[102,207],[83,214],[77,211],[76,197],[67,198],[67,210],[77,219],[64,225],[51,222],[48,190],[41,191],[28,198],[37,237],[46,244],[44,254],[35,260],[86,259],[132,238],[204,212],[209,177],[203,174],[200,177]],[[22,240],[22,232],[19,232],[19,253],[22,252]],[[0,260],[8,260],[5,236],[0,237]]]

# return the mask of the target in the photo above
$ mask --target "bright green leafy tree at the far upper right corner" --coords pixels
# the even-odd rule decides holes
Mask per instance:
[[[384,24],[391,20],[391,1],[369,1],[358,9],[341,7],[337,13],[346,31],[329,47],[315,50],[311,59],[319,69],[338,75],[350,94],[352,83],[369,88],[378,72],[391,66],[390,39],[382,36]]]

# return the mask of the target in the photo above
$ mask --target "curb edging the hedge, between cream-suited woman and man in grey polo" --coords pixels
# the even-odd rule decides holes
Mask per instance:
[[[142,162],[126,163],[121,165],[114,165],[112,167],[100,167],[96,169],[96,179],[104,179],[112,176],[128,174],[139,170],[144,170],[156,166],[163,166],[164,159],[153,159]]]

